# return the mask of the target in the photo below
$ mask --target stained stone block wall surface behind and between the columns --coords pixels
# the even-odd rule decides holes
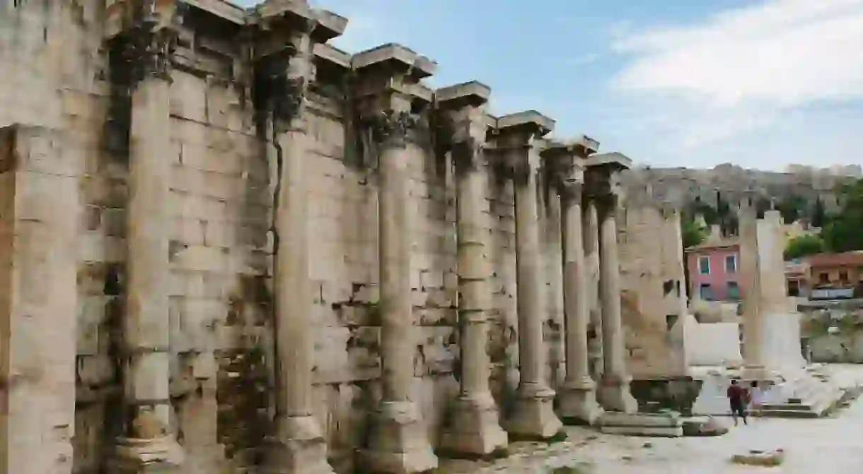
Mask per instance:
[[[62,170],[57,177],[62,185],[47,184],[41,192],[53,196],[47,202],[62,203],[60,209],[68,210],[66,216],[74,221],[69,227],[61,215],[54,216],[66,222],[67,233],[72,232],[67,244],[77,249],[77,284],[64,280],[66,289],[72,289],[70,301],[53,300],[51,308],[66,304],[70,315],[75,313],[75,321],[59,327],[77,334],[74,339],[66,334],[76,341],[77,358],[74,427],[63,436],[72,439],[70,458],[73,471],[80,474],[100,472],[121,428],[120,345],[128,290],[129,103],[111,88],[97,4],[64,3],[43,10],[32,3],[16,9],[16,16],[4,11],[0,18],[0,68],[11,72],[0,84],[0,127],[28,126],[33,147],[41,147],[40,153],[56,161],[48,171]],[[215,472],[220,466],[225,472],[240,472],[258,461],[257,448],[269,433],[274,406],[274,242],[269,233],[274,147],[256,132],[251,104],[243,101],[243,91],[236,85],[181,71],[173,72],[172,78],[174,147],[164,159],[173,163],[173,229],[171,271],[165,278],[170,282],[175,428],[186,449],[189,472]],[[372,163],[363,156],[367,147],[352,132],[346,90],[330,90],[338,93],[312,97],[308,133],[314,146],[303,157],[309,164],[306,179],[312,197],[312,245],[307,252],[316,283],[310,296],[316,334],[314,399],[319,401],[317,415],[332,464],[347,471],[354,450],[363,442],[367,410],[380,396],[377,193]],[[413,317],[419,325],[413,392],[431,440],[437,443],[448,402],[458,390],[454,187],[450,159],[435,153],[431,137],[414,146],[413,155],[411,285]],[[0,164],[8,156],[0,154]],[[16,186],[5,185],[13,179],[10,176],[0,173],[4,361],[10,338],[20,337],[9,332],[13,315],[7,310],[19,291],[10,290],[10,262],[20,252],[9,240],[9,209],[20,197]],[[488,179],[494,309],[487,349],[494,395],[506,412],[507,395],[518,381],[513,189],[494,171]],[[72,182],[76,185],[70,188]],[[562,311],[560,289],[552,284],[559,281],[559,228],[553,225],[553,200],[545,196],[542,202],[545,210],[540,214],[551,215],[543,217],[548,233],[549,374],[559,378]],[[44,284],[40,289],[45,290]],[[62,285],[50,290],[66,297]],[[6,365],[2,375],[8,382]],[[67,411],[72,415],[71,407]]]

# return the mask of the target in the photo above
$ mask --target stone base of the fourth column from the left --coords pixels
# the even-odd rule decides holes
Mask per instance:
[[[498,418],[491,394],[459,396],[452,413],[452,425],[441,437],[441,451],[453,457],[485,457],[502,452],[509,439]]]

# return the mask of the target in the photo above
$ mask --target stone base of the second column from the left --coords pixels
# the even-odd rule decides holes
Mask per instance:
[[[268,437],[267,460],[261,474],[333,474],[318,420],[312,415],[286,416],[279,433]]]

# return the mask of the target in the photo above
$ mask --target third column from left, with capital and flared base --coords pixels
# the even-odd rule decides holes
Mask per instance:
[[[400,45],[357,53],[351,59],[358,77],[357,108],[369,129],[378,160],[378,262],[381,314],[382,392],[372,417],[369,444],[361,464],[373,472],[423,472],[438,466],[419,405],[411,395],[416,328],[413,323],[408,229],[408,163],[422,153],[409,142],[420,117],[412,114],[423,90],[419,79],[435,64]]]

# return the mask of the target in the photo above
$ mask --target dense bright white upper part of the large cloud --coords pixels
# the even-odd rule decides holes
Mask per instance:
[[[630,35],[625,90],[675,90],[715,106],[863,97],[863,0],[768,0],[700,25]]]

